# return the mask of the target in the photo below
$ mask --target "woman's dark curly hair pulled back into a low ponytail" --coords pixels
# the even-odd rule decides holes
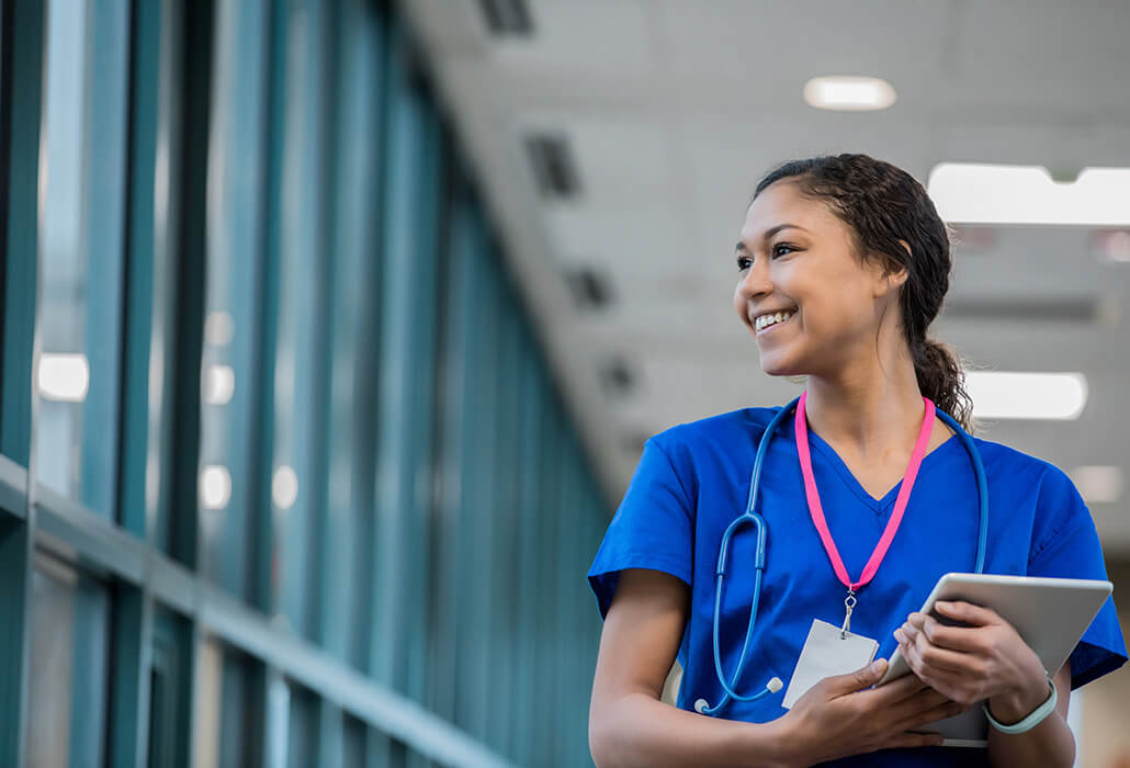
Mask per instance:
[[[902,320],[919,389],[972,430],[973,401],[965,391],[960,361],[950,347],[927,338],[949,290],[953,260],[949,232],[925,189],[889,163],[845,154],[777,166],[758,182],[753,199],[782,180],[794,183],[803,197],[825,202],[847,224],[860,259],[906,269]],[[910,244],[910,253],[898,241]]]

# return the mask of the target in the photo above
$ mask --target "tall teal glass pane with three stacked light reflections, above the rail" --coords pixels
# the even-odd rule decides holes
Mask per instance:
[[[216,6],[200,405],[201,570],[252,599],[267,9]],[[269,450],[269,446],[267,446]]]

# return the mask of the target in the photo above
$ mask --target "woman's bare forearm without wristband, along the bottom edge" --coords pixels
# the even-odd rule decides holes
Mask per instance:
[[[589,748],[598,768],[797,765],[781,721],[703,717],[643,692],[625,696],[593,715]]]

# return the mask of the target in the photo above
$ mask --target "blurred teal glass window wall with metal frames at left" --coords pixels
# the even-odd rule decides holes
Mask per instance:
[[[0,765],[582,765],[608,500],[401,9],[0,9]]]

